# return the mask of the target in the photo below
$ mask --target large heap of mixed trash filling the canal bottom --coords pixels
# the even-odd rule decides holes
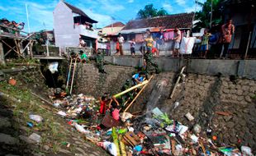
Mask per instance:
[[[211,130],[202,131],[196,124],[192,128],[169,118],[167,113],[154,108],[144,115],[130,112],[120,114],[116,121],[106,112],[99,113],[100,103],[92,96],[78,94],[55,100],[57,112],[65,117],[73,129],[83,133],[85,140],[106,149],[111,155],[253,155],[243,145],[218,145]],[[192,115],[186,115],[192,120]]]

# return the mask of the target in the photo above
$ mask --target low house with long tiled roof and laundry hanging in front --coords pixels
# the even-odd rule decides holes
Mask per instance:
[[[147,29],[152,32],[153,37],[156,36],[160,30],[164,30],[164,34],[171,35],[173,34],[175,27],[178,27],[182,33],[185,34],[187,30],[192,29],[193,19],[194,13],[192,12],[129,21],[120,31],[126,40],[126,43],[123,46],[124,52],[130,53],[130,44],[127,42],[130,39],[135,39],[135,51],[139,51],[143,42],[143,34],[145,34]],[[160,54],[166,55],[170,53],[172,44],[173,41],[170,38],[164,39],[164,43],[159,46]]]

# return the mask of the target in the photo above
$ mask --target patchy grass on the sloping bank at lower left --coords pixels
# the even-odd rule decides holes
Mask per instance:
[[[61,142],[67,140],[66,134],[61,130],[60,126],[56,124],[58,118],[54,117],[52,112],[42,108],[43,103],[39,99],[36,99],[31,90],[26,89],[19,84],[9,85],[7,81],[0,82],[0,91],[4,94],[9,94],[10,97],[20,99],[21,103],[12,102],[9,105],[15,105],[13,108],[13,116],[18,118],[19,125],[26,126],[26,122],[33,122],[29,118],[31,113],[40,115],[44,118],[44,121],[40,124],[33,122],[34,127],[26,130],[26,135],[31,135],[32,132],[36,132],[41,135],[42,145],[52,145],[52,152],[57,153],[60,148]],[[18,127],[17,127],[18,128]],[[40,154],[39,149],[33,149],[34,152]]]

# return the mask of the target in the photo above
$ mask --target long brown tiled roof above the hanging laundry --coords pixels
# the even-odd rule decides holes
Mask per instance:
[[[194,13],[181,13],[168,16],[158,16],[141,20],[129,21],[123,30],[133,30],[147,27],[164,27],[165,29],[192,28]]]

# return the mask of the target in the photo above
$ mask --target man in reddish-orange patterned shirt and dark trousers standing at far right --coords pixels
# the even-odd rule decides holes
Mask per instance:
[[[226,58],[227,52],[228,52],[228,49],[230,46],[230,42],[232,39],[232,34],[234,34],[234,32],[235,32],[235,26],[232,24],[231,19],[229,19],[226,24],[221,26],[221,31],[222,31],[221,33],[223,36],[222,42],[223,42],[223,46],[224,46],[222,56]]]

